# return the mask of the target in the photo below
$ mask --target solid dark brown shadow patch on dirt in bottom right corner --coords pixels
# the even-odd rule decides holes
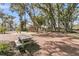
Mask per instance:
[[[61,42],[58,42],[58,43],[61,43]],[[70,56],[79,56],[79,52],[78,52],[79,48],[78,47],[68,45],[64,42],[62,43],[62,45],[59,45],[57,43],[55,43],[55,44],[58,46],[58,48],[60,48],[64,52],[66,52],[68,55],[70,55]]]

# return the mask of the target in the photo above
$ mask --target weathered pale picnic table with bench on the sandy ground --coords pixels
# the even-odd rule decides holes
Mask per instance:
[[[26,44],[31,44],[33,42],[34,41],[32,40],[32,37],[27,36],[27,35],[19,35],[18,38],[17,38],[17,40],[15,40],[16,48],[18,50],[24,51],[24,52],[25,52],[24,46]]]

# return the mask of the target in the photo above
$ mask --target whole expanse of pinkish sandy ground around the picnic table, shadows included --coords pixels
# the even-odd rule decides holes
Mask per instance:
[[[61,33],[33,33],[22,32],[21,34],[29,35],[41,47],[41,55],[78,55],[79,56],[79,39],[69,37]],[[14,41],[20,33],[8,32],[0,34],[0,40]],[[38,52],[35,55],[40,55]]]

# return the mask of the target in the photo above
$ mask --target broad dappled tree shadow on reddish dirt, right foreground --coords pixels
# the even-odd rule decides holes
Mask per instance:
[[[44,44],[43,49],[48,51],[49,55],[56,53],[58,56],[79,56],[79,45],[77,44],[50,41],[48,44]],[[63,54],[63,52],[66,54]]]

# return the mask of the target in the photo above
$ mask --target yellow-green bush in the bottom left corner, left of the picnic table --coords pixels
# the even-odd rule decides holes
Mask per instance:
[[[0,42],[0,55],[12,56],[14,54],[15,52],[10,42]]]

